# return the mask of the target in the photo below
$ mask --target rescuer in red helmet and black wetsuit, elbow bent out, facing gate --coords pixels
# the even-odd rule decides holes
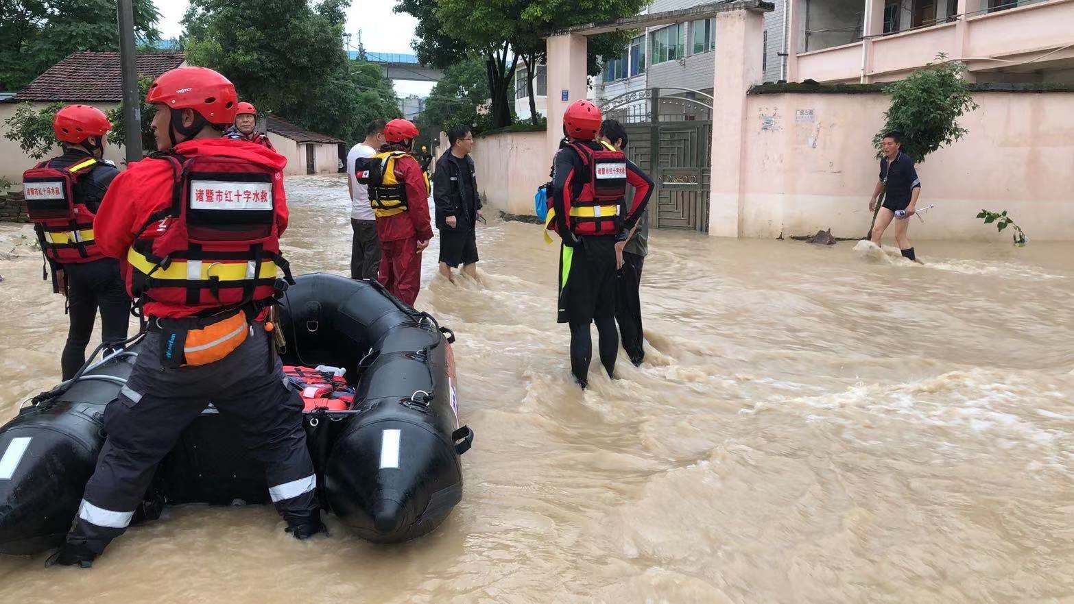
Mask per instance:
[[[555,154],[547,229],[563,240],[557,320],[570,324],[570,372],[584,388],[593,356],[591,324],[597,326],[608,377],[615,369],[615,275],[653,187],[622,151],[597,143],[600,109],[590,101],[567,107],[563,128],[567,139]],[[635,189],[630,204],[627,185]]]

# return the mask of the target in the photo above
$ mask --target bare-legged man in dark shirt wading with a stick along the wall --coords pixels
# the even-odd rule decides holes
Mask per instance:
[[[876,209],[876,198],[883,192],[884,204],[876,215],[876,224],[869,239],[880,246],[884,231],[891,224],[891,220],[898,219],[895,224],[895,240],[902,250],[902,255],[912,261],[916,261],[914,248],[910,247],[910,239],[906,238],[906,231],[910,229],[911,216],[914,216],[914,208],[917,207],[917,197],[921,193],[921,181],[917,178],[917,171],[914,170],[914,160],[902,152],[902,142],[899,135],[889,132],[884,135],[881,146],[884,153],[880,160],[880,182],[873,190],[873,195],[869,200],[869,211]]]

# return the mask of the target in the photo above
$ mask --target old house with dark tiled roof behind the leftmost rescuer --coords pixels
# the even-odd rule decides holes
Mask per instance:
[[[156,77],[185,64],[183,53],[143,53],[137,56],[139,77]],[[14,97],[0,100],[0,131],[6,130],[4,120],[14,115],[23,103],[30,103],[35,109],[53,103],[84,103],[107,113],[119,105],[122,98],[119,53],[75,53],[49,68]],[[110,144],[104,157],[121,166],[125,157],[122,147]],[[18,182],[23,172],[34,163],[35,160],[26,156],[18,143],[0,136],[0,178]]]

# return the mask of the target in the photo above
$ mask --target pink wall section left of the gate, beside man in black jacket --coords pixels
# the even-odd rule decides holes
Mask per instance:
[[[552,165],[543,131],[479,136],[471,157],[488,209],[534,213],[534,193],[548,181]]]

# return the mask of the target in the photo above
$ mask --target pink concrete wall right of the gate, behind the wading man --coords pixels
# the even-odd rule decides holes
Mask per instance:
[[[917,167],[919,204],[937,208],[912,235],[1006,239],[975,218],[984,207],[1010,210],[1034,240],[1074,238],[1074,94],[989,92],[977,102],[961,120],[970,133]],[[871,141],[887,106],[883,94],[750,97],[738,235],[863,234],[879,173]]]

